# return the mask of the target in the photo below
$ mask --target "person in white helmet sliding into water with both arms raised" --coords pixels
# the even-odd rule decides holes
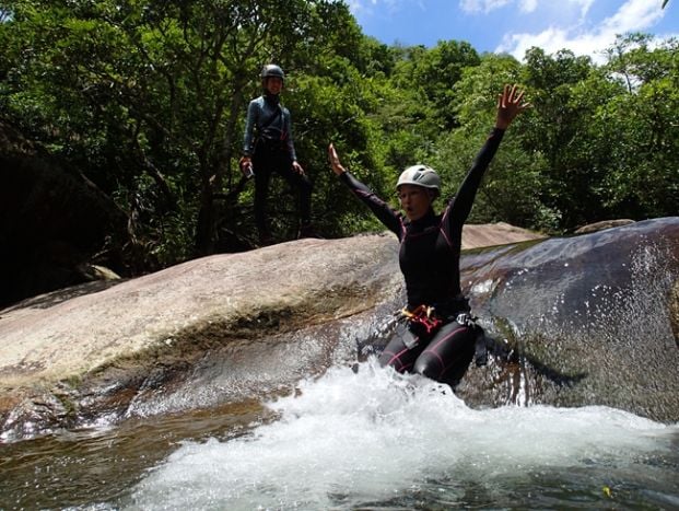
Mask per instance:
[[[483,330],[476,324],[460,288],[463,225],[505,130],[529,106],[516,85],[504,86],[497,98],[495,127],[441,214],[433,209],[441,193],[441,178],[433,169],[413,165],[399,176],[396,189],[403,214],[351,175],[330,143],[332,171],[400,242],[399,264],[408,303],[396,335],[379,356],[381,365],[422,374],[455,388],[475,352],[477,364],[485,363]]]

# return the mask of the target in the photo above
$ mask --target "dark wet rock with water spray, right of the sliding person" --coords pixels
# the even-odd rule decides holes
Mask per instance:
[[[512,351],[468,374],[468,403],[679,420],[679,218],[479,251],[464,267],[475,312]]]

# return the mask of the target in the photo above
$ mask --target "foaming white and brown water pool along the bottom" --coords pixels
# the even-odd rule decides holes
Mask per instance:
[[[679,509],[679,425],[471,409],[373,360],[282,396],[0,446],[0,509]]]

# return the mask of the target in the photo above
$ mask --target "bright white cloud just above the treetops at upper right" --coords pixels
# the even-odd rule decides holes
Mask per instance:
[[[581,5],[581,15],[585,15],[592,7],[592,0],[573,0]],[[643,32],[664,15],[657,2],[648,0],[627,0],[610,18],[590,30],[583,25],[572,27],[550,26],[535,33],[507,34],[496,51],[512,54],[523,59],[526,50],[532,46],[542,48],[548,54],[567,48],[576,55],[588,55],[593,60],[602,60],[601,51],[616,40],[616,36],[627,32]]]

